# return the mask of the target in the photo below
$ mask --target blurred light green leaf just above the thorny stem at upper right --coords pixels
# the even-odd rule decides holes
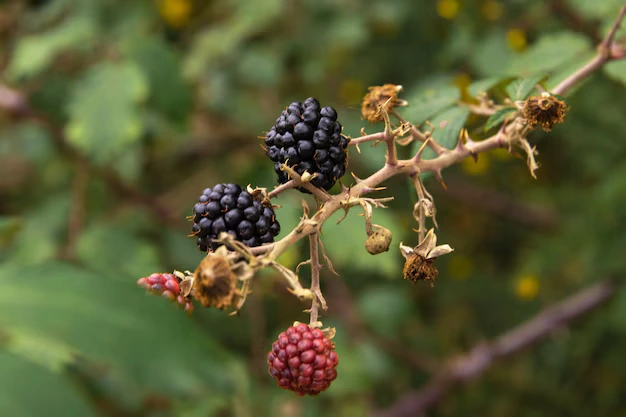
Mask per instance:
[[[512,60],[510,72],[529,75],[554,71],[591,49],[589,39],[579,33],[559,32],[545,35]]]

